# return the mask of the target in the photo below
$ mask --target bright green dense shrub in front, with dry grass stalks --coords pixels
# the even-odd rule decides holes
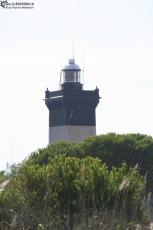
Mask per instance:
[[[73,229],[84,222],[90,227],[95,213],[124,224],[140,221],[143,196],[144,179],[136,169],[122,165],[109,171],[98,158],[59,155],[44,166],[24,164],[10,179],[0,196],[0,226]]]

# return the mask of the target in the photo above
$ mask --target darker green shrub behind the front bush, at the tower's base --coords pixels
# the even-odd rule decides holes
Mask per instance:
[[[137,166],[141,175],[147,177],[147,191],[153,191],[153,138],[142,134],[115,134],[89,137],[80,144],[58,142],[40,149],[29,158],[31,162],[43,165],[49,160],[64,154],[75,157],[97,157],[109,169],[126,163]]]

